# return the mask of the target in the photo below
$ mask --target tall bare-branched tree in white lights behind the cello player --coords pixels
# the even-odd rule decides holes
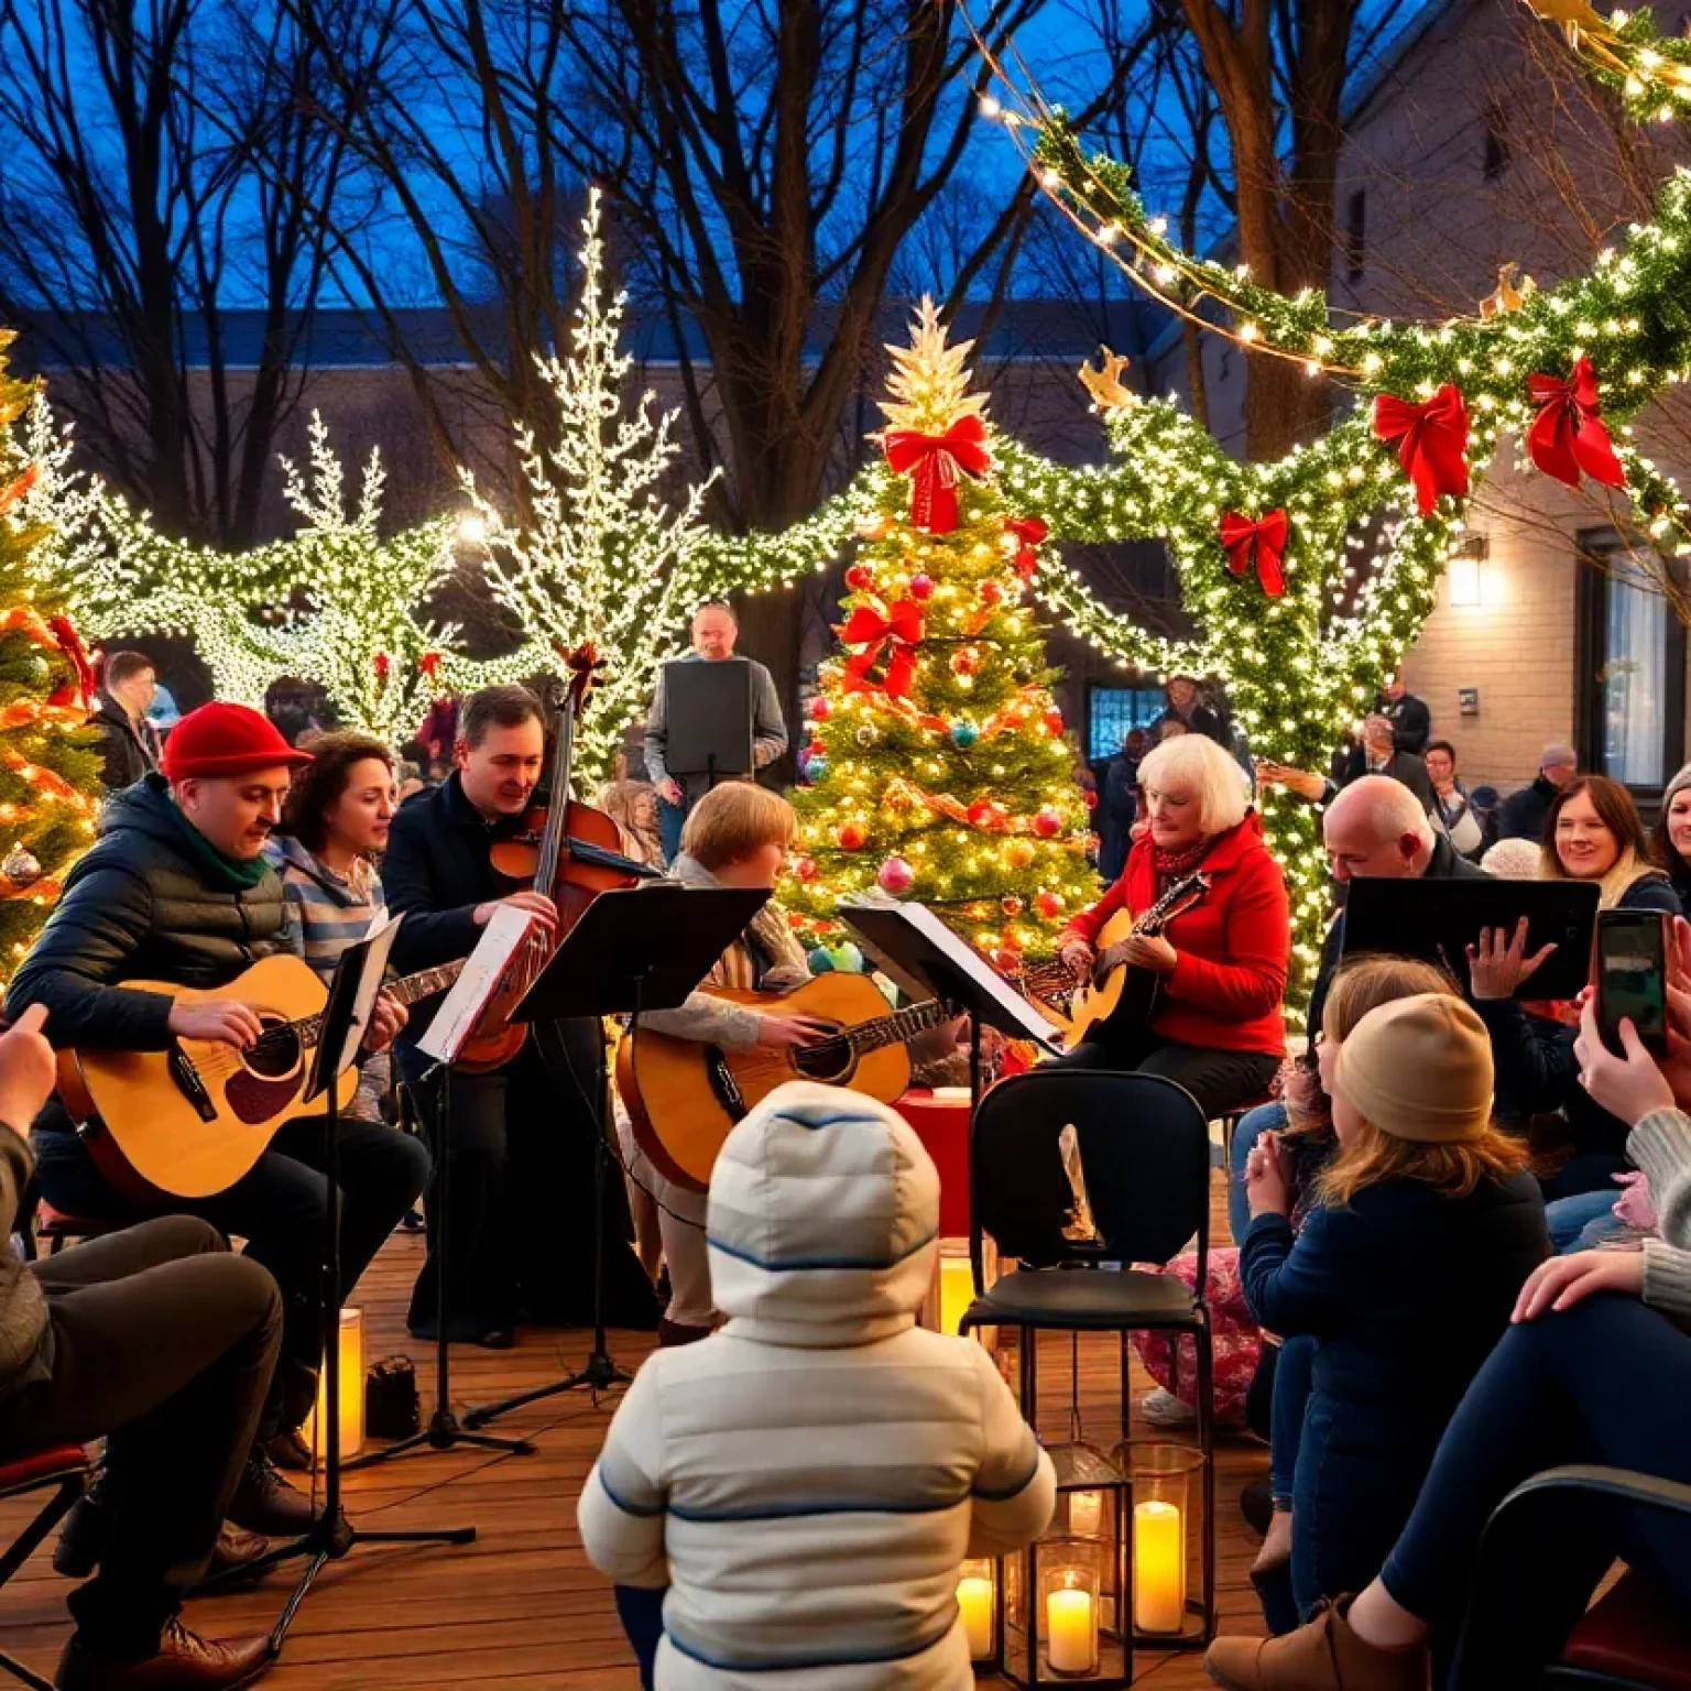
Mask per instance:
[[[580,264],[570,355],[539,360],[558,402],[556,448],[545,450],[528,423],[512,421],[528,482],[526,524],[502,529],[468,473],[463,485],[489,528],[489,585],[521,619],[531,668],[561,673],[563,654],[588,643],[604,663],[577,742],[577,763],[592,783],[610,774],[624,731],[646,710],[658,665],[676,651],[705,597],[710,536],[700,516],[715,473],[671,506],[663,487],[681,451],[680,413],[658,411],[651,392],[624,409],[634,364],[621,350],[627,296],[609,293],[597,188],[582,220]]]

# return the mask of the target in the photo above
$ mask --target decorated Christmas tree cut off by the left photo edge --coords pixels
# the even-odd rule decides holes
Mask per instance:
[[[30,389],[7,377],[0,331],[0,979],[17,967],[88,849],[100,759],[85,732],[93,673],[59,599],[30,566],[36,479],[17,423]]]

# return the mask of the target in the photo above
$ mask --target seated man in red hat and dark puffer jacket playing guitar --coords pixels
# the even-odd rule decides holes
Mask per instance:
[[[276,827],[289,771],[309,763],[259,712],[210,703],[176,725],[164,773],[115,795],[100,839],[64,893],[7,993],[7,1015],[46,1004],[56,1045],[159,1052],[172,1040],[245,1050],[259,1015],[233,998],[171,999],[125,981],[218,989],[260,957],[296,952],[282,883],[260,852]],[[404,1011],[377,1001],[370,1048],[386,1047]],[[252,1458],[228,1517],[252,1532],[298,1534],[311,1505],[276,1471],[269,1442],[296,1429],[316,1398],[318,1248],[328,1182],[318,1172],[321,1123],[287,1123],[252,1170],[203,1199],[159,1194],[137,1206],[95,1165],[64,1104],[36,1119],[30,1148],[41,1194],[56,1209],[96,1221],[194,1214],[240,1234],[247,1255],[282,1292],[282,1353],[259,1419]],[[416,1202],[428,1152],[379,1123],[340,1123],[342,1297],[382,1240]],[[85,1529],[86,1530],[86,1529]]]

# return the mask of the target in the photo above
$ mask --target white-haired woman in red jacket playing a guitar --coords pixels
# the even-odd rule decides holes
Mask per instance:
[[[1263,844],[1243,771],[1214,741],[1163,741],[1140,764],[1140,783],[1150,832],[1121,879],[1064,930],[1064,962],[1075,974],[1089,971],[1097,935],[1118,910],[1148,910],[1196,871],[1209,876],[1209,891],[1162,933],[1125,942],[1131,967],[1162,977],[1150,1026],[1096,1023],[1060,1060],[1165,1075],[1214,1118],[1261,1097],[1285,1050],[1285,881]]]

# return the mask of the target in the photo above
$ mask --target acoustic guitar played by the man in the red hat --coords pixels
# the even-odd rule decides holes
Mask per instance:
[[[402,1004],[445,991],[463,962],[392,981]],[[159,981],[123,981],[135,993],[178,1001],[235,998],[264,1023],[237,1050],[216,1040],[172,1040],[162,1052],[64,1048],[59,1099],[78,1123],[100,1172],[139,1202],[210,1197],[232,1187],[269,1148],[277,1130],[306,1114],[301,1094],[321,1033],[328,988],[291,954],[255,962],[228,986],[200,991]],[[340,1081],[338,1103],[352,1101],[358,1074]],[[313,1103],[313,1113],[320,1109]]]

